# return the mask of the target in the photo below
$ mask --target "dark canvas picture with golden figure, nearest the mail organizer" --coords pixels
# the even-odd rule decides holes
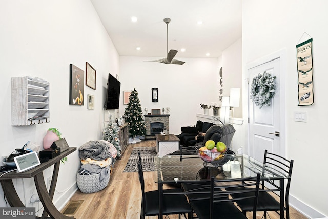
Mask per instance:
[[[70,64],[69,104],[84,105],[84,70]]]

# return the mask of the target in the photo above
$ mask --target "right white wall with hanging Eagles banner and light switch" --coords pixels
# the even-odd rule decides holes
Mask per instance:
[[[326,116],[325,57],[328,31],[328,2],[243,1],[242,57],[246,65],[275,51],[286,49],[286,156],[294,159],[290,204],[311,218],[328,215],[328,176],[325,143]],[[314,104],[298,105],[296,45],[306,32],[313,37]],[[306,34],[305,34],[306,35]],[[246,110],[246,109],[244,109]],[[308,112],[308,122],[295,122],[294,111]],[[323,214],[323,215],[322,215]]]

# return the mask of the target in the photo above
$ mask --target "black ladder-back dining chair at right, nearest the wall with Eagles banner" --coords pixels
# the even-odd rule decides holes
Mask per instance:
[[[289,189],[291,185],[291,177],[292,177],[292,170],[293,170],[293,160],[287,160],[286,158],[268,152],[268,150],[265,150],[264,152],[264,162],[265,165],[267,166],[272,166],[276,170],[280,171],[282,174],[286,175],[288,174],[289,178],[287,179],[286,183],[286,189],[284,192],[285,196],[285,206],[284,206],[284,211],[286,211],[286,217],[289,219]],[[263,172],[265,174],[265,172]],[[267,182],[271,185],[271,187],[274,187],[276,189],[273,189],[275,191],[280,191],[279,187],[280,185],[278,184],[277,181],[274,180],[262,180],[262,188],[260,189],[259,192],[259,197],[258,197],[258,205],[257,205],[257,211],[264,211],[264,218],[267,218],[267,213],[268,211],[275,211],[277,214],[283,214],[284,212],[280,212],[280,201],[279,194],[275,192],[268,192],[265,191],[265,185],[264,183]],[[235,197],[240,197],[239,194],[235,194]],[[276,196],[276,197],[274,197]],[[246,215],[248,211],[251,211],[252,205],[248,202],[245,202],[243,200],[237,201],[236,202],[238,206],[242,209],[242,212]]]

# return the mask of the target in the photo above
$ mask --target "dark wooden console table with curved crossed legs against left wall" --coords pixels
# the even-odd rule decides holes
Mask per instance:
[[[7,200],[11,207],[25,207],[22,201],[20,200],[14,184],[12,180],[14,178],[34,178],[35,187],[37,190],[37,194],[39,195],[40,201],[44,207],[44,211],[42,213],[42,217],[36,217],[36,218],[48,218],[48,214],[51,218],[74,218],[74,217],[68,217],[63,214],[61,214],[57,208],[52,203],[52,198],[55,193],[55,188],[57,184],[57,177],[59,172],[59,165],[61,158],[64,158],[65,156],[71,154],[74,152],[76,148],[69,148],[68,150],[62,152],[59,156],[49,159],[48,162],[42,163],[39,166],[36,166],[35,168],[28,170],[26,172],[17,173],[17,172],[9,172],[5,175],[0,177],[0,183],[2,186],[2,189],[4,190],[5,196],[7,197]],[[51,185],[49,192],[47,190],[43,172],[48,167],[54,165],[53,173],[52,173],[52,179],[51,179]]]

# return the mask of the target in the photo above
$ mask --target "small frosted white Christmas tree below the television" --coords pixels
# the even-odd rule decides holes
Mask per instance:
[[[109,121],[106,128],[103,131],[103,139],[112,143],[117,150],[117,157],[121,156],[122,148],[119,145],[119,137],[118,137],[119,127],[112,121],[112,115],[109,115]]]

